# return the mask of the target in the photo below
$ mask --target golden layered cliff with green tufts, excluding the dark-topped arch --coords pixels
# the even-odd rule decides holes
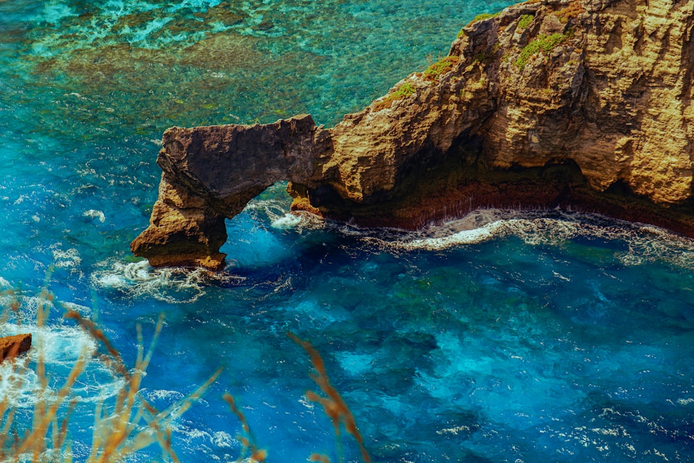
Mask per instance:
[[[691,234],[693,9],[543,1],[469,24],[438,67],[332,128],[344,201],[307,194],[364,224],[573,203]]]

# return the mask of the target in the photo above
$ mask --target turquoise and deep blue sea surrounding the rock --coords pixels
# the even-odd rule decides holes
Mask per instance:
[[[0,289],[21,291],[31,328],[49,276],[56,303],[33,330],[51,386],[91,345],[66,308],[98,316],[128,364],[137,324],[151,339],[164,312],[145,398],[163,409],[224,367],[174,422],[184,461],[239,454],[224,392],[269,461],[337,461],[287,331],[323,354],[377,462],[694,461],[694,242],[664,230],[499,210],[358,230],[287,215],[276,185],[228,221],[221,276],[130,255],[165,128],[299,112],[334,124],[508,4],[0,1]],[[1,379],[27,416],[35,378]],[[96,361],[78,382],[76,461],[119,386]]]

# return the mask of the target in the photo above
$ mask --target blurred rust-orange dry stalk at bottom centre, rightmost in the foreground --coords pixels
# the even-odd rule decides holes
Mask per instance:
[[[364,437],[362,437],[361,432],[359,432],[359,429],[357,428],[357,423],[354,419],[352,411],[349,409],[340,393],[337,392],[337,389],[330,384],[328,373],[325,372],[325,362],[323,362],[323,357],[321,357],[321,354],[316,351],[310,342],[300,339],[291,332],[287,332],[287,336],[289,336],[292,341],[296,342],[296,344],[304,348],[310,357],[311,364],[313,365],[314,369],[316,369],[316,373],[318,373],[311,373],[310,377],[312,380],[314,380],[314,382],[316,382],[316,385],[321,388],[321,391],[323,394],[325,394],[325,396],[321,396],[313,391],[307,391],[306,396],[310,401],[323,405],[323,411],[332,421],[332,426],[335,428],[337,457],[339,458],[339,461],[344,461],[340,437],[340,423],[342,423],[345,430],[352,437],[354,437],[357,444],[359,444],[359,450],[362,452],[362,460],[364,460],[365,463],[371,463],[369,452],[366,451],[366,447],[364,446]]]

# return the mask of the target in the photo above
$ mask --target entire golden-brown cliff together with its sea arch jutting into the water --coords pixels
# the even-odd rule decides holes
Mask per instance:
[[[277,180],[295,209],[364,225],[559,205],[694,236],[693,29],[688,0],[531,0],[329,130],[171,128],[133,253],[218,269],[223,218]]]

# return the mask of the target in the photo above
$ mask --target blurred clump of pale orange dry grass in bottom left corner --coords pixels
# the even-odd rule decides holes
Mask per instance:
[[[14,293],[6,292],[5,294],[14,296]],[[12,298],[9,308],[16,312],[15,317],[20,321],[19,305],[15,306],[15,301],[16,298]],[[36,316],[36,325],[39,328],[44,326],[51,308],[51,301],[53,296],[46,291],[42,292]],[[46,376],[44,346],[39,343],[35,365],[38,380],[35,393],[37,400],[33,407],[31,429],[26,430],[24,435],[18,435],[17,426],[15,426],[18,424],[15,422],[15,409],[10,404],[10,398],[3,397],[0,401],[0,461],[72,461],[68,425],[76,406],[76,399],[71,399],[71,392],[90,357],[96,355],[110,367],[114,376],[124,380],[125,386],[117,394],[112,407],[108,407],[105,403],[96,405],[92,448],[86,461],[92,463],[126,460],[128,456],[142,448],[157,443],[162,448],[165,458],[178,462],[178,457],[171,445],[171,422],[187,411],[203,395],[221,371],[214,373],[194,393],[171,405],[167,410],[159,412],[140,396],[139,389],[160,335],[163,317],[160,317],[157,323],[155,335],[146,354],[142,329],[137,327],[137,360],[133,373],[128,371],[121,355],[105,337],[103,330],[99,329],[94,322],[84,319],[77,312],[67,312],[66,317],[75,320],[84,328],[97,344],[103,346],[106,353],[81,353],[64,384],[57,393],[52,393]],[[6,311],[0,319],[7,321]],[[28,358],[13,359],[10,378],[8,378],[10,384],[14,383],[17,388],[22,387],[22,378],[30,371]],[[59,413],[66,407],[67,411],[59,417]]]

